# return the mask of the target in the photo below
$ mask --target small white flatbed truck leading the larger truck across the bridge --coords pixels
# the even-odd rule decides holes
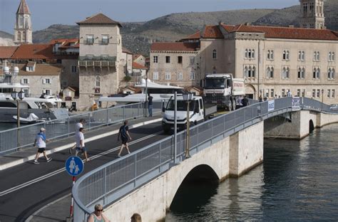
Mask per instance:
[[[185,129],[187,125],[187,102],[183,100],[183,95],[177,95],[177,112],[176,120],[178,130]],[[163,108],[162,127],[163,131],[168,133],[174,129],[174,111],[175,100],[170,97],[167,107]],[[205,105],[203,97],[193,96],[189,105],[189,122],[190,126],[198,125],[198,123],[208,120],[217,112],[217,105]]]

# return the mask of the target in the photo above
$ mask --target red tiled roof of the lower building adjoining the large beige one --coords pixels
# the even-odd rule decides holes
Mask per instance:
[[[199,43],[153,43],[150,51],[197,51],[200,48]]]

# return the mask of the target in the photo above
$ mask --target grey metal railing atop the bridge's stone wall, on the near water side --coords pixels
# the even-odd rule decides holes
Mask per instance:
[[[191,127],[190,154],[210,147],[212,140],[228,137],[263,119],[291,112],[297,107],[332,112],[328,105],[307,98],[276,99],[273,108],[269,101],[256,102]],[[72,191],[75,200],[74,221],[86,221],[96,203],[107,206],[140,185],[155,179],[170,169],[175,158],[176,162],[182,162],[185,159],[185,139],[186,131],[178,132],[176,157],[174,157],[174,137],[170,136],[83,175],[76,181]]]

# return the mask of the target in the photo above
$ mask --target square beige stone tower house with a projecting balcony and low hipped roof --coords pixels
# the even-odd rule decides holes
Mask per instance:
[[[87,110],[101,95],[117,93],[122,73],[122,42],[117,21],[96,14],[80,26],[80,54],[78,58],[80,97],[77,107]]]

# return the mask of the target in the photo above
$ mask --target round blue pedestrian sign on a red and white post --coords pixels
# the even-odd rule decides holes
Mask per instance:
[[[68,157],[65,163],[66,171],[69,175],[72,176],[73,185],[75,184],[76,176],[80,175],[83,171],[84,164],[82,162],[82,159],[80,157]],[[69,218],[73,217],[73,206],[74,206],[74,199],[73,194],[71,194],[71,210],[69,213]]]

